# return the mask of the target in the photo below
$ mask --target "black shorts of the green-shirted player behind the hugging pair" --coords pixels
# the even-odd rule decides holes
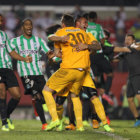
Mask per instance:
[[[105,58],[103,53],[91,55],[91,69],[95,76],[99,76],[100,74],[112,73],[112,66],[109,60]]]

